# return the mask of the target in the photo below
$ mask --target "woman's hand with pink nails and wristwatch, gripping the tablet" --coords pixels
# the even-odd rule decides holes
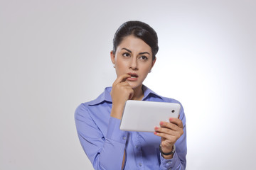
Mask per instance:
[[[168,122],[160,122],[160,127],[155,127],[154,135],[161,137],[161,149],[169,153],[175,142],[183,135],[183,123],[178,118],[170,118]],[[164,155],[165,159],[171,159],[173,155]]]

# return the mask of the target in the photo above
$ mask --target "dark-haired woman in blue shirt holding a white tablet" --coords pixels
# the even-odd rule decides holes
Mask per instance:
[[[110,52],[117,79],[95,100],[75,111],[78,137],[95,169],[185,169],[186,118],[160,122],[155,132],[119,130],[127,100],[179,103],[142,83],[156,62],[156,32],[146,23],[128,21],[114,35]]]

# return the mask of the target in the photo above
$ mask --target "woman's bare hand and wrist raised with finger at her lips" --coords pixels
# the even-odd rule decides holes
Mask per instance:
[[[124,110],[125,102],[132,98],[134,90],[126,81],[127,78],[131,77],[129,74],[123,74],[114,81],[111,90],[112,98],[112,111],[110,116],[121,119],[122,112]]]

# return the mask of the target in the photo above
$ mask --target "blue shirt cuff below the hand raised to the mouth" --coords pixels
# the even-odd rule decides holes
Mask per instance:
[[[107,128],[107,139],[114,140],[120,143],[126,143],[127,141],[127,131],[120,130],[121,120],[117,118],[110,117],[109,125]]]

